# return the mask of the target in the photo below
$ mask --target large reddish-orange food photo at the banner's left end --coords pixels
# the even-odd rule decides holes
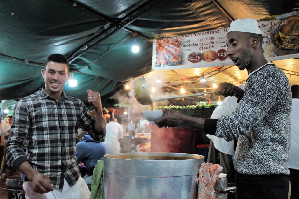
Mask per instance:
[[[156,65],[173,66],[179,65],[183,60],[181,52],[181,38],[157,39],[156,42]]]

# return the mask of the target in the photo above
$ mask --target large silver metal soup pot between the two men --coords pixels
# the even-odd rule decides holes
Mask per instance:
[[[203,162],[204,156],[187,153],[104,155],[104,198],[197,198]]]

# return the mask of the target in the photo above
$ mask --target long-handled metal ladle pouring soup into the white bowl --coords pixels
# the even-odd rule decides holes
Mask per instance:
[[[187,98],[187,97],[194,97],[206,94],[212,94],[216,91],[208,91],[208,92],[198,92],[195,94],[188,94],[188,95],[174,95],[174,96],[167,96],[167,97],[160,97],[160,98],[153,98],[151,99],[149,88],[147,86],[147,82],[145,81],[144,77],[138,78],[133,83],[133,94],[139,104],[142,105],[149,105],[151,101],[160,101],[160,100],[169,100],[169,99],[178,99],[178,98]]]

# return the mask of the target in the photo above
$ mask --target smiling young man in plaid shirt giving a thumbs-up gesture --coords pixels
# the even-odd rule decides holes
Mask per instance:
[[[103,141],[106,120],[100,93],[87,90],[88,102],[96,112],[92,118],[83,102],[63,92],[70,78],[69,61],[50,55],[42,69],[45,86],[16,104],[10,137],[8,165],[25,174],[26,198],[89,198],[89,189],[76,163],[78,127]],[[28,157],[23,145],[28,141]]]

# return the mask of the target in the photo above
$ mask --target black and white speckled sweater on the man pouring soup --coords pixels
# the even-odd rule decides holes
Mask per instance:
[[[267,64],[248,77],[244,97],[230,116],[218,119],[215,135],[239,139],[234,158],[238,173],[289,174],[292,95],[286,75]]]

